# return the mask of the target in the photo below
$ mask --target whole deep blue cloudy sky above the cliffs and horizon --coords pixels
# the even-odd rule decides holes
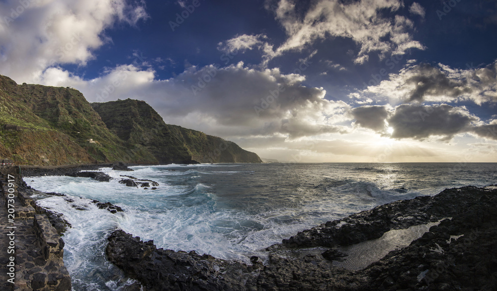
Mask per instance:
[[[287,162],[497,162],[495,0],[0,0],[0,74]]]

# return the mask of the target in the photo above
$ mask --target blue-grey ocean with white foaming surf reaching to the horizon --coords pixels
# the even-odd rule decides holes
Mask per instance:
[[[122,290],[132,283],[105,258],[107,236],[123,229],[158,248],[195,250],[222,259],[264,259],[263,249],[298,231],[389,202],[446,188],[497,184],[497,163],[264,163],[135,166],[102,171],[97,182],[66,176],[24,177],[35,195],[72,224],[63,236],[73,289]],[[127,187],[120,175],[158,182]],[[112,214],[91,203],[110,202]],[[81,210],[83,209],[83,210]]]

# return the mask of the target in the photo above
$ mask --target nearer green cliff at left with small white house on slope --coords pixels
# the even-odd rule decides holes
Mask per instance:
[[[0,154],[15,163],[37,165],[157,162],[150,152],[112,134],[81,92],[18,85],[1,75]]]

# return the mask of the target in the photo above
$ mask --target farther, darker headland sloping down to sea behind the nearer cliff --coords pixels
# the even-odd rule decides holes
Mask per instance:
[[[257,154],[233,142],[166,124],[145,101],[127,99],[91,105],[119,138],[144,146],[160,163],[261,162]]]

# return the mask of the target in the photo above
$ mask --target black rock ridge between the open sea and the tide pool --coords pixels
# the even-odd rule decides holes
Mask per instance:
[[[367,239],[379,238],[391,229],[404,229],[411,225],[435,222],[442,218],[454,217],[460,208],[471,201],[471,196],[461,193],[473,192],[474,187],[461,190],[445,190],[437,196],[420,196],[378,206],[341,220],[328,221],[318,227],[299,232],[284,239],[287,247],[332,247],[349,245]]]

